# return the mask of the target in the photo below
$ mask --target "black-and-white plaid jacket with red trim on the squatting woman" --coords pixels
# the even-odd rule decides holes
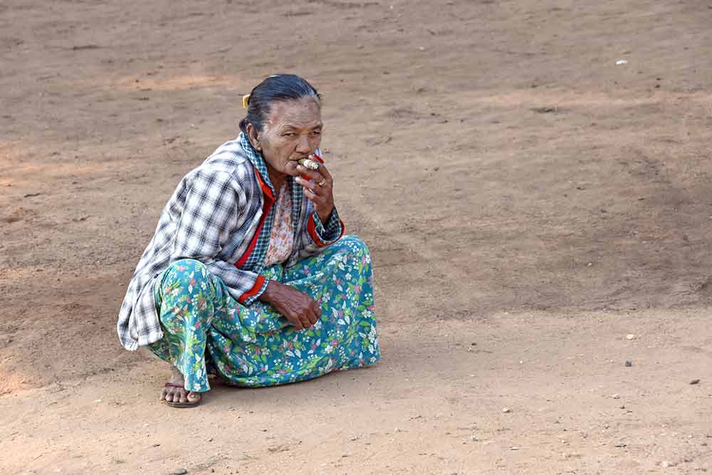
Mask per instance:
[[[344,231],[336,209],[323,224],[313,203],[304,199],[300,184],[291,177],[288,184],[295,240],[285,266],[318,254]],[[129,283],[117,323],[121,345],[136,350],[163,337],[154,286],[161,273],[179,259],[204,263],[222,279],[230,295],[246,306],[261,296],[268,283],[260,272],[275,212],[269,205],[275,196],[266,163],[244,134],[221,145],[183,177]]]

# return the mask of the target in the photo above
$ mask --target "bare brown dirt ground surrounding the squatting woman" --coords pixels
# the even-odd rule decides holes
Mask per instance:
[[[710,25],[709,1],[3,1],[0,472],[712,470]],[[180,177],[284,71],[325,97],[383,360],[171,409],[117,310]]]

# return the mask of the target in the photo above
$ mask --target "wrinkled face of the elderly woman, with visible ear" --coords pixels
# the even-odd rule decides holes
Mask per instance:
[[[248,135],[253,146],[261,147],[271,173],[296,177],[297,160],[309,157],[319,147],[322,129],[319,103],[305,97],[272,103],[262,132],[249,125]]]

